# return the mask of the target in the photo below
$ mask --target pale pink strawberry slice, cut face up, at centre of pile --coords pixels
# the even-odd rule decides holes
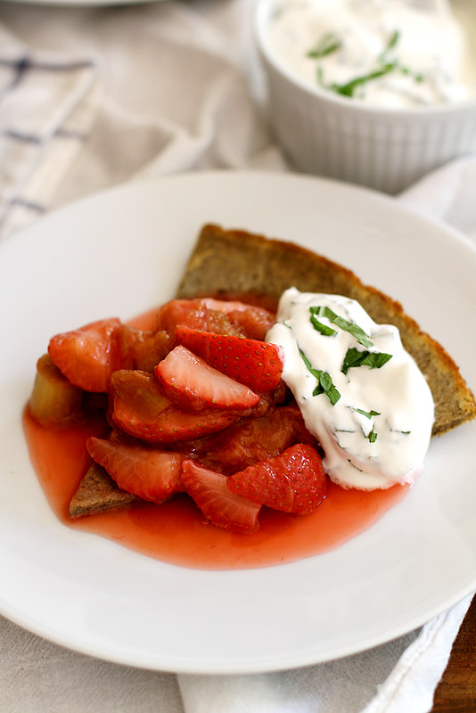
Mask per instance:
[[[185,409],[241,409],[259,402],[258,394],[180,344],[160,361],[154,373],[167,396]]]

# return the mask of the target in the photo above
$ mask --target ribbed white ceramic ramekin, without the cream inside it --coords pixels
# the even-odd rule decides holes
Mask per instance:
[[[294,77],[267,40],[277,2],[258,0],[254,31],[267,77],[269,122],[295,168],[398,193],[433,168],[476,152],[476,100],[380,109]]]

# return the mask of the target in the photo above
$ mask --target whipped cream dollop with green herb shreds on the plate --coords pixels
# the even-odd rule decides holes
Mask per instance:
[[[397,327],[376,324],[353,299],[291,288],[267,341],[283,348],[283,380],[332,481],[364,490],[414,481],[434,404]]]

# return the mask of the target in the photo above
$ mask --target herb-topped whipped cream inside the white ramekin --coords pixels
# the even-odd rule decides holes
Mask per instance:
[[[309,86],[373,106],[475,95],[471,43],[444,0],[278,0],[267,37],[276,59]]]

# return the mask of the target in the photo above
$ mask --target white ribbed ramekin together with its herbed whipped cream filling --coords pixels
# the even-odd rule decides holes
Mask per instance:
[[[466,11],[458,22],[446,0],[258,0],[267,111],[291,165],[398,193],[476,151]]]

